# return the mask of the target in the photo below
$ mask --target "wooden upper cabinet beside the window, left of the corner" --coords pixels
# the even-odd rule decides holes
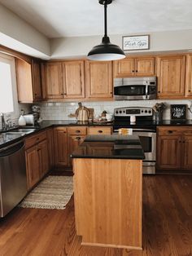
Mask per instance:
[[[15,59],[18,100],[20,103],[41,101],[41,62],[33,59],[31,63]]]

